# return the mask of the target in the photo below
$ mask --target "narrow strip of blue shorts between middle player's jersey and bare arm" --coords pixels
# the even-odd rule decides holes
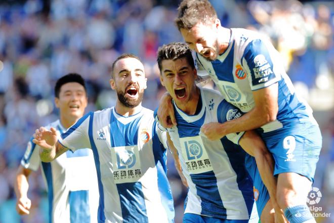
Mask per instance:
[[[253,179],[254,199],[256,201],[259,217],[261,217],[263,208],[266,206],[270,198],[269,192],[261,179],[255,158],[249,154],[246,154],[245,157],[245,167]]]

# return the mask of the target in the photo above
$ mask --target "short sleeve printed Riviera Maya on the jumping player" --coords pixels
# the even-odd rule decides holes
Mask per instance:
[[[270,49],[268,49],[270,47]],[[258,90],[268,87],[280,80],[280,74],[275,73],[275,70],[280,70],[281,64],[274,61],[278,61],[278,58],[272,58],[272,55],[276,53],[270,53],[274,51],[273,46],[268,46],[262,40],[253,40],[250,42],[242,56],[242,66],[245,68],[248,75],[248,80],[252,90]]]

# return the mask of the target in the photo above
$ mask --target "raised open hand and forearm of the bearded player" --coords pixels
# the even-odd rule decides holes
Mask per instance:
[[[68,150],[58,142],[56,129],[50,130],[40,127],[33,135],[32,142],[40,146],[39,157],[42,162],[51,162]]]

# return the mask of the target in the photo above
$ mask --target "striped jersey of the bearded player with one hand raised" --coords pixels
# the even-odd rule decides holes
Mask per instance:
[[[93,150],[99,222],[174,222],[165,137],[144,107],[130,117],[114,107],[89,113],[62,134],[59,142],[70,150]]]

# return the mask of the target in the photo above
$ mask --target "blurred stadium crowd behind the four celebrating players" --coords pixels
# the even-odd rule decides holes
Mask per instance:
[[[317,222],[334,222],[334,3],[332,1],[212,0],[225,27],[266,34],[282,54],[297,91],[318,121],[323,147],[314,187],[320,189]],[[121,53],[145,64],[148,88],[143,105],[155,109],[165,92],[156,51],[182,41],[174,25],[177,0],[0,1],[0,222],[47,222],[47,197],[40,173],[30,177],[30,215],[15,211],[14,178],[34,130],[58,119],[53,87],[58,78],[80,73],[87,81],[86,112],[114,105],[110,66]],[[169,179],[181,222],[183,187],[168,161]],[[318,211],[319,212],[319,211]]]

